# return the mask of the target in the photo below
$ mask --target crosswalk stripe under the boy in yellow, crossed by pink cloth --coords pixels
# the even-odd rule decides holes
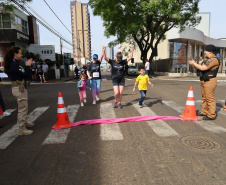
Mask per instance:
[[[139,108],[137,102],[132,102],[132,104],[141,116],[156,115],[156,113],[153,112],[149,107],[143,106],[142,108]],[[160,137],[179,136],[179,134],[163,120],[152,120],[147,121],[147,123]]]

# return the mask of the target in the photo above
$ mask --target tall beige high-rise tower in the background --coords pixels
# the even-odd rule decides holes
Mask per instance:
[[[87,3],[71,1],[73,55],[76,64],[91,60],[90,14]]]

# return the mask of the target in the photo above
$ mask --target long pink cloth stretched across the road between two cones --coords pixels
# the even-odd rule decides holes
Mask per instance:
[[[95,125],[95,124],[111,124],[111,123],[120,123],[120,122],[135,122],[135,121],[150,121],[150,120],[183,120],[180,117],[174,116],[136,116],[129,118],[112,118],[112,119],[93,119],[93,120],[85,120],[79,121],[72,124],[72,126],[79,125]]]

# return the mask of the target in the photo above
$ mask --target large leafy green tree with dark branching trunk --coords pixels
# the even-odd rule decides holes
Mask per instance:
[[[101,16],[105,36],[116,36],[110,45],[133,41],[144,62],[154,58],[158,44],[173,27],[181,31],[197,25],[200,0],[89,0],[93,14]]]

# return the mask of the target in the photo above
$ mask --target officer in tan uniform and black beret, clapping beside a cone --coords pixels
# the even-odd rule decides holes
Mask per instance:
[[[214,90],[217,86],[217,72],[220,62],[217,59],[216,47],[214,45],[207,45],[205,47],[206,58],[201,64],[197,64],[194,60],[189,60],[188,63],[197,70],[200,70],[201,93],[202,93],[202,111],[198,116],[204,116],[203,120],[216,119],[216,100]]]

